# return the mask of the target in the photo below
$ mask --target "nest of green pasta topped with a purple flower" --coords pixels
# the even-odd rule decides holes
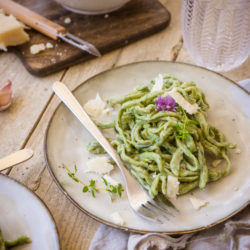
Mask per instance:
[[[228,149],[236,145],[208,124],[209,105],[202,90],[172,75],[161,75],[160,88],[156,84],[157,78],[120,99],[108,100],[111,106],[120,105],[116,119],[98,124],[101,129],[114,128],[116,136],[109,141],[131,174],[152,197],[167,194],[168,176],[178,178],[179,195],[226,176],[231,165]],[[171,98],[173,92],[183,99],[178,104]],[[184,104],[196,107],[195,112]],[[105,153],[96,141],[88,144],[88,150]],[[223,168],[208,167],[209,155],[224,160]]]

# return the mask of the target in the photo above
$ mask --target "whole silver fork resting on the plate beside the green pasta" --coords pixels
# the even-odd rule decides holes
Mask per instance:
[[[131,208],[144,219],[163,223],[168,220],[169,215],[172,215],[167,208],[175,208],[163,195],[159,199],[152,199],[135,178],[129,173],[108,140],[103,136],[102,132],[90,119],[83,107],[73,96],[71,91],[62,82],[55,82],[53,90],[62,102],[73,112],[85,128],[95,137],[102,145],[110,157],[120,168],[126,183],[126,192]],[[165,204],[164,204],[165,203]]]

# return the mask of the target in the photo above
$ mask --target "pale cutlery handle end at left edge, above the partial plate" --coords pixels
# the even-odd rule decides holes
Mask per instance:
[[[0,171],[24,162],[33,156],[33,150],[30,148],[21,149],[0,159]]]

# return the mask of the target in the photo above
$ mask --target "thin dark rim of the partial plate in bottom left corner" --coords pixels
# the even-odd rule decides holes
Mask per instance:
[[[0,173],[0,177],[6,178],[8,180],[11,180],[13,182],[15,182],[17,185],[20,185],[21,187],[23,187],[27,192],[29,192],[34,198],[37,199],[37,201],[39,202],[39,204],[41,204],[41,206],[47,211],[48,216],[50,217],[51,222],[53,223],[54,227],[55,227],[55,233],[56,233],[56,241],[58,244],[58,250],[61,250],[61,244],[60,244],[60,237],[59,237],[59,232],[58,232],[58,228],[55,222],[55,219],[51,213],[51,211],[49,210],[48,206],[44,203],[44,201],[36,194],[34,193],[31,189],[29,189],[28,187],[26,187],[24,184],[22,184],[20,181]]]

